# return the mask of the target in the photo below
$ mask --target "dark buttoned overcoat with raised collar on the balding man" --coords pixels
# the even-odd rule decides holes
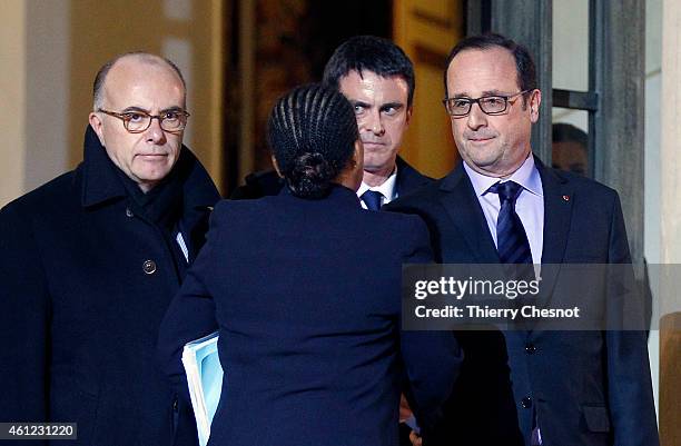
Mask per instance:
[[[174,175],[193,260],[219,195],[187,148]],[[70,445],[196,442],[191,406],[154,360],[186,269],[176,245],[137,209],[91,128],[76,170],[0,211],[0,422],[78,423]]]

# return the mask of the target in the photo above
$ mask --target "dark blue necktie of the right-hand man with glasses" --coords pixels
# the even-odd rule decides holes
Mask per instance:
[[[515,200],[523,187],[514,181],[497,182],[490,189],[499,195],[501,209],[496,219],[496,250],[502,264],[532,264],[527,234],[515,212]]]

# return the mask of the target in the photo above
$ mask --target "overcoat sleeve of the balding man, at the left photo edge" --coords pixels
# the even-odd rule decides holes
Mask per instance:
[[[0,422],[46,422],[50,296],[31,224],[17,205],[0,210]]]

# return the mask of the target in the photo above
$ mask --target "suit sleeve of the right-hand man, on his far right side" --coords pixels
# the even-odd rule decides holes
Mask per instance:
[[[622,207],[616,196],[613,201],[609,257],[610,264],[631,262]],[[638,306],[638,303],[634,306]],[[632,307],[619,307],[618,311],[632,311]],[[660,439],[643,324],[633,327],[634,329],[622,328],[624,329],[610,329],[605,333],[613,444],[657,446]]]

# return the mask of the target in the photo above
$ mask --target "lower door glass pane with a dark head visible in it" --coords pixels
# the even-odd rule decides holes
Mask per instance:
[[[555,169],[591,177],[589,112],[554,107],[551,163]]]

